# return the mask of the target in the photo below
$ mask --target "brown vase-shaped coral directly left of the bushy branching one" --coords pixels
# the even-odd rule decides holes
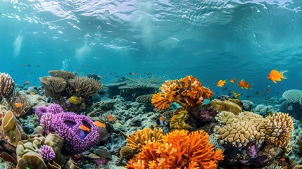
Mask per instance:
[[[59,99],[61,92],[66,87],[67,82],[61,77],[39,77],[40,83],[44,87],[45,96],[52,99]]]

